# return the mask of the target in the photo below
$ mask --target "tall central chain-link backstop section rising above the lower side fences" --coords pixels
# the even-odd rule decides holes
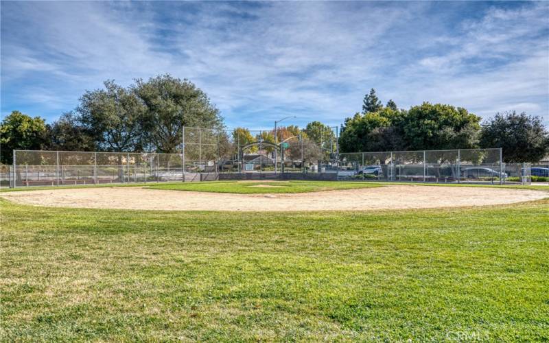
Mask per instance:
[[[278,130],[213,130],[183,128],[185,170],[204,173],[291,173],[336,167],[337,127],[303,132]],[[322,166],[322,167],[319,167]]]

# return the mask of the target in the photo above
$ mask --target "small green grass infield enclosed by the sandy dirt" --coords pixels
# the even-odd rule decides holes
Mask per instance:
[[[341,181],[218,181],[186,182],[170,185],[156,184],[151,189],[170,189],[175,191],[205,191],[214,193],[305,193],[314,191],[334,191],[336,189],[355,189],[382,187],[373,182]]]

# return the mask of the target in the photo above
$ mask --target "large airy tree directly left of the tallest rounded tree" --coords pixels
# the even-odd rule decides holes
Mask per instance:
[[[76,108],[78,121],[95,140],[98,150],[143,150],[145,106],[131,88],[104,82],[104,89],[86,91]]]

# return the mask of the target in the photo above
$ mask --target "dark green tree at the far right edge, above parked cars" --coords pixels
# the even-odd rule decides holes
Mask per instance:
[[[549,133],[540,117],[498,113],[482,124],[482,147],[501,147],[506,163],[537,162],[549,154]]]

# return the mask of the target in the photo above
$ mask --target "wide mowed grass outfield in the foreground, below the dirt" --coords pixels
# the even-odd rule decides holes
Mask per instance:
[[[549,340],[549,200],[378,213],[1,201],[1,340]]]

